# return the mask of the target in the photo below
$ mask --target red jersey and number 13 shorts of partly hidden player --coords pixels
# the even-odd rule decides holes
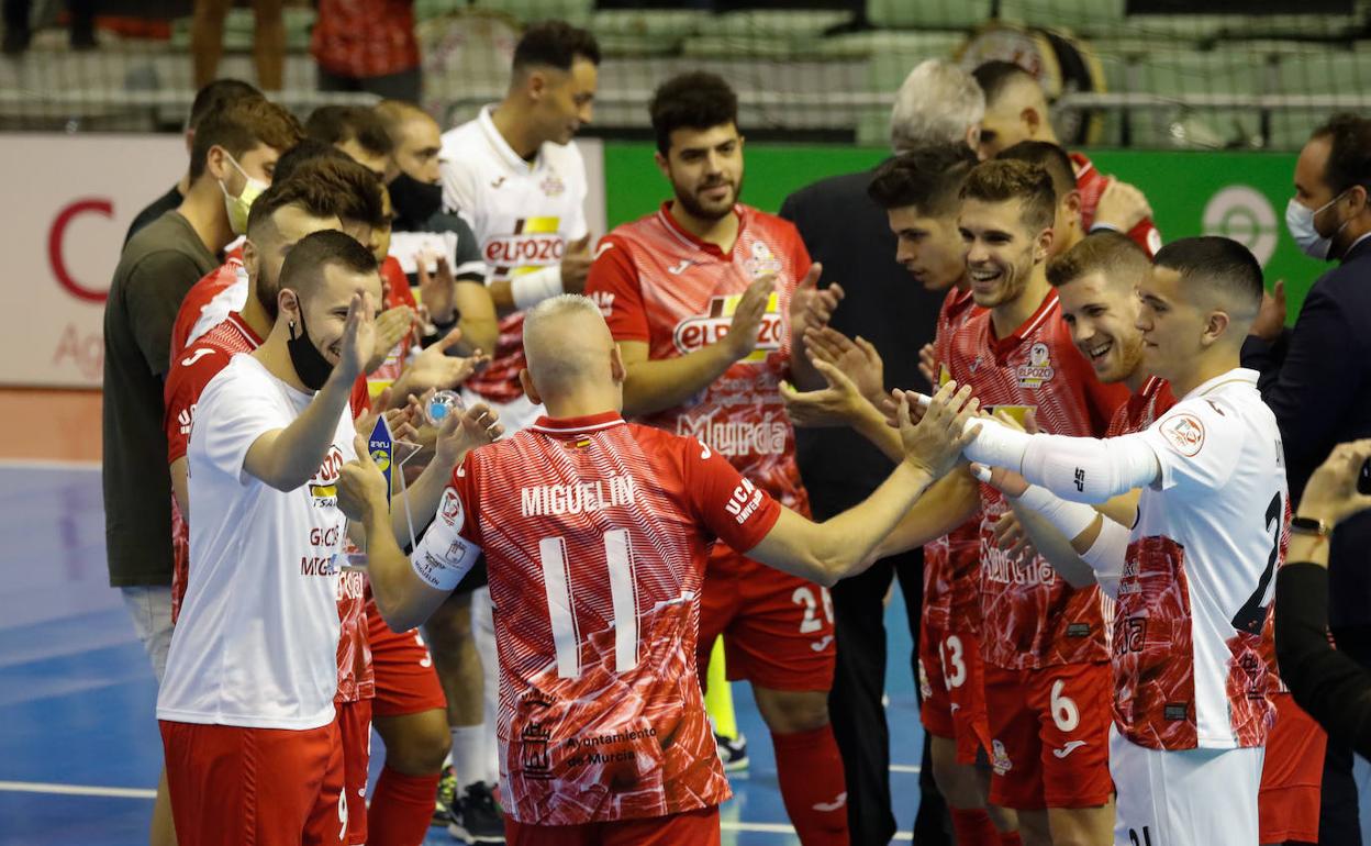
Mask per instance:
[[[938,313],[938,383],[951,378],[951,336],[980,309],[971,291],[950,288]],[[990,753],[980,658],[980,516],[924,544],[924,613],[919,636],[919,716],[930,732],[957,743],[957,761]]]

